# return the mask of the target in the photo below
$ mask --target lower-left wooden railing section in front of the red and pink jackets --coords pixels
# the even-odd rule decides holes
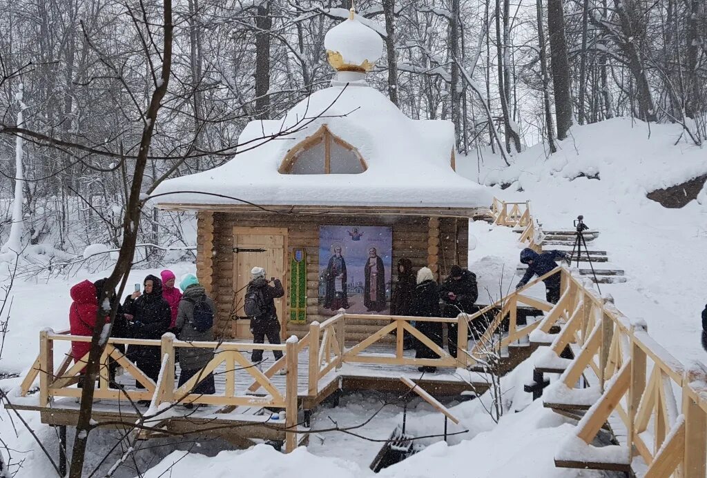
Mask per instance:
[[[81,388],[73,387],[81,376],[82,370],[88,363],[88,354],[74,363],[71,352],[66,354],[58,369],[54,367],[54,343],[62,341],[90,342],[91,338],[83,335],[69,335],[69,333],[54,333],[51,330],[40,332],[40,354],[35,360],[30,372],[23,379],[20,395],[27,395],[37,376],[40,379],[39,403],[40,407],[49,407],[54,397],[80,398]],[[296,424],[298,413],[298,352],[307,341],[288,340],[282,345],[253,344],[239,342],[183,342],[175,340],[173,334],[165,334],[161,340],[141,340],[127,338],[109,338],[105,352],[100,359],[98,385],[93,397],[95,400],[150,400],[153,405],[160,404],[197,404],[197,405],[223,405],[227,410],[233,410],[240,405],[253,407],[281,407],[286,411],[284,428],[291,433],[286,433],[285,448],[291,451],[296,448]],[[158,383],[152,380],[139,369],[139,366],[129,360],[116,345],[144,347],[159,347],[160,357],[163,357]],[[197,347],[212,350],[214,357],[201,371],[182,386],[175,385],[175,354],[176,349]],[[265,372],[250,362],[245,352],[252,349],[268,351],[279,350],[284,352],[284,357],[277,361]],[[144,388],[125,386],[124,384],[109,383],[109,361],[115,360]],[[223,370],[218,370],[223,366]],[[286,367],[286,387],[282,393],[271,381],[271,377]],[[216,389],[215,394],[194,393],[199,383],[209,376],[219,374],[225,377],[226,386],[223,390]],[[251,381],[252,384],[245,390],[237,390],[236,376]],[[253,395],[252,391],[262,388],[264,395]],[[154,419],[152,420],[155,421]]]

